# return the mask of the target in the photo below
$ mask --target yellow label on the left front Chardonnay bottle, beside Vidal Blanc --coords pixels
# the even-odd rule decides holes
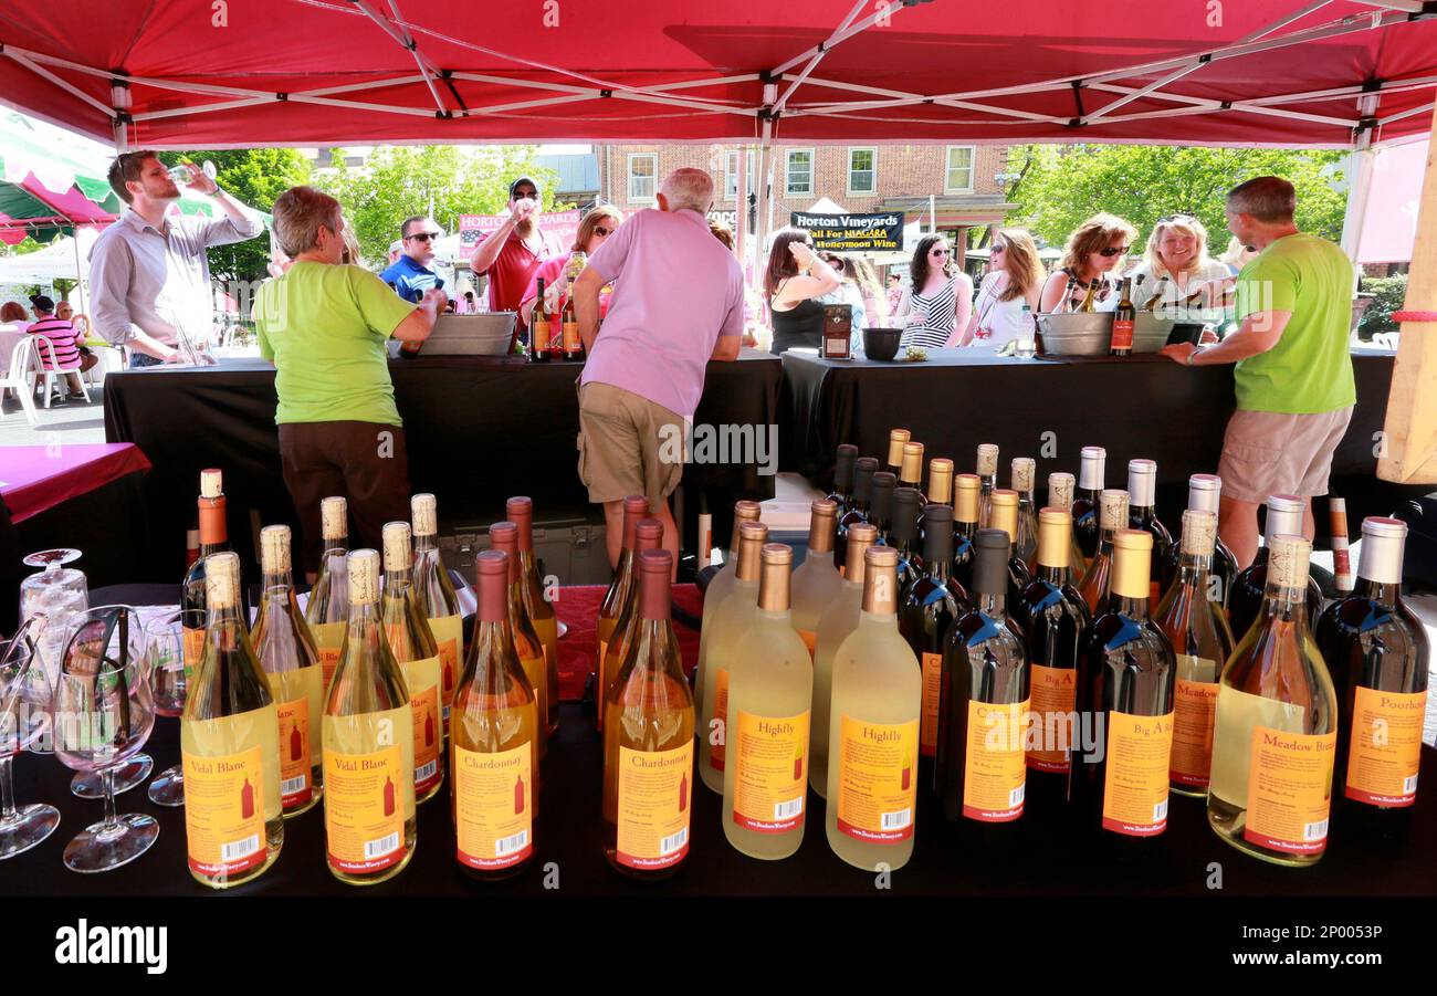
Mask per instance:
[[[458,862],[499,871],[527,861],[535,849],[535,746],[497,753],[454,747],[451,763]]]

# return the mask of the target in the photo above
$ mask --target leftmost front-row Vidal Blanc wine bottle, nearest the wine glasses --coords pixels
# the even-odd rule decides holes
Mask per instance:
[[[185,852],[201,885],[230,888],[264,874],[285,845],[279,717],[240,615],[240,558],[204,565],[200,665],[180,717]]]

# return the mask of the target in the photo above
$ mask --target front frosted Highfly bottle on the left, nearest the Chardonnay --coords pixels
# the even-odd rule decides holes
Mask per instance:
[[[790,618],[793,550],[767,543],[760,559],[759,607],[729,674],[723,832],[741,854],[777,861],[803,842],[813,664]]]

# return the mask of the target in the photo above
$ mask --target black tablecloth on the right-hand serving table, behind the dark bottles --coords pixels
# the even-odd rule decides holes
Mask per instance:
[[[1374,434],[1387,417],[1392,355],[1357,351],[1352,368],[1358,401],[1332,458],[1332,493],[1346,497],[1355,533],[1364,516],[1388,515],[1401,497],[1430,489],[1377,479]],[[1049,473],[1076,474],[1079,450],[1102,446],[1109,487],[1127,487],[1128,460],[1157,461],[1158,510],[1173,529],[1187,504],[1188,476],[1217,473],[1234,407],[1232,366],[1186,368],[1158,355],[1017,359],[930,349],[923,364],[884,364],[786,352],[779,466],[828,490],[839,443],[887,461],[888,431],[902,427],[927,447],[925,464],[951,457],[958,473],[971,473],[979,443],[996,443],[1004,487],[1012,457],[1036,458],[1043,502]],[[1325,523],[1318,532],[1326,533]]]

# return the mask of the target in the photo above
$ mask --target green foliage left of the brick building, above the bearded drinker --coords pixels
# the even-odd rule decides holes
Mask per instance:
[[[345,207],[345,218],[359,239],[371,264],[382,262],[389,243],[399,237],[399,224],[411,214],[427,214],[445,233],[458,230],[461,214],[497,214],[509,203],[509,184],[520,175],[533,177],[545,188],[543,210],[553,210],[553,170],[535,164],[532,145],[398,145],[376,149],[358,168],[345,167],[335,154],[336,170],[315,178]]]

